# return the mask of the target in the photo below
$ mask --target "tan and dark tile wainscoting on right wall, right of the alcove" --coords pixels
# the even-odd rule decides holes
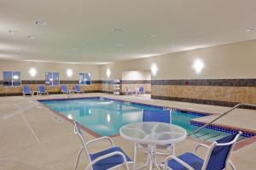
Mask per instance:
[[[151,85],[152,99],[222,106],[256,104],[256,79],[153,80]]]

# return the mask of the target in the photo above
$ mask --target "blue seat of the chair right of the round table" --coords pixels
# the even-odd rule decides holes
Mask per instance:
[[[189,164],[190,167],[193,167],[195,170],[201,170],[201,167],[203,166],[204,161],[198,157],[195,156],[193,153],[186,152],[181,156],[177,156],[182,161]],[[183,167],[182,164],[178,163],[175,160],[168,161],[168,167],[171,167],[173,170],[187,170],[186,167]]]

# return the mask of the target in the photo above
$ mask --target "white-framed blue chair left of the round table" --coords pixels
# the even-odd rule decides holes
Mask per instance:
[[[79,150],[79,154],[75,161],[74,170],[76,170],[78,167],[79,157],[82,153],[82,150],[84,150],[85,155],[90,161],[87,167],[85,167],[85,170],[105,170],[120,166],[124,166],[125,169],[129,170],[128,163],[132,163],[130,157],[127,156],[120,147],[115,146],[111,138],[106,136],[98,139],[92,139],[86,142],[77,122],[74,122],[74,133],[79,136],[79,139],[82,142],[82,147]],[[108,140],[110,147],[106,150],[90,154],[88,146],[90,144],[99,143],[102,140]]]

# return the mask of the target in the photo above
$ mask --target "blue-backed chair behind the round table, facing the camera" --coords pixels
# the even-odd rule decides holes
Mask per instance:
[[[172,115],[171,115],[170,111],[143,110],[143,122],[172,123]],[[135,156],[134,157],[136,157],[136,155],[137,155],[137,149],[143,149],[145,152],[148,153],[148,145],[135,144],[135,151],[134,151]],[[169,150],[170,153],[163,153],[158,150]],[[155,151],[155,155],[165,155],[165,156],[174,155],[174,144],[155,145],[154,151]],[[148,157],[148,159],[149,159],[149,157]],[[143,167],[146,167],[146,165],[148,164],[148,159],[147,159],[146,164]],[[156,159],[156,157],[154,157],[154,159]],[[134,160],[134,162],[136,162],[136,160]]]

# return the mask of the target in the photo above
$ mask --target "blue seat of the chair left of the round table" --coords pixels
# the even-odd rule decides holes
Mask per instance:
[[[113,153],[114,151],[119,151],[119,152],[122,152],[123,154],[125,154],[125,152],[120,148],[120,147],[112,147],[112,148],[109,148],[107,150],[102,150],[100,152],[97,152],[95,154],[90,154],[90,160],[93,161],[95,160],[96,158],[100,157],[100,156],[105,156],[109,153]],[[126,154],[125,154],[125,157],[126,157],[126,161],[131,161],[130,157],[128,157]],[[124,163],[123,161],[123,157],[122,156],[119,156],[119,155],[115,155],[115,156],[110,156],[106,159],[103,159],[101,161],[97,161],[93,166],[92,168],[94,170],[104,170],[104,169],[108,169],[110,167],[115,167],[119,164],[122,164]]]

